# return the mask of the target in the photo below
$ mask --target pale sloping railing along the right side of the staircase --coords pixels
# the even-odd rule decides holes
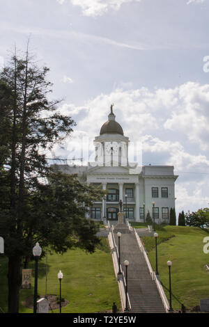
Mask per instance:
[[[139,248],[141,250],[141,253],[143,253],[144,255],[144,259],[146,260],[146,264],[148,266],[148,270],[150,271],[150,276],[152,278],[152,280],[155,280],[155,284],[157,286],[157,289],[160,293],[160,297],[162,299],[162,303],[164,305],[164,308],[167,312],[169,312],[169,302],[167,300],[167,296],[164,294],[164,289],[162,288],[162,285],[160,284],[159,280],[157,279],[157,276],[155,274],[155,272],[153,271],[152,266],[150,265],[150,261],[148,260],[148,256],[146,254],[146,250],[144,249],[143,244],[141,243],[141,239],[139,238],[139,235],[137,234],[136,229],[134,228],[134,233],[135,236],[137,238],[137,243],[139,244]]]

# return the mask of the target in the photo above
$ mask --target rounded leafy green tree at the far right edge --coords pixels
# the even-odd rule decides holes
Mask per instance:
[[[185,223],[187,226],[209,228],[209,209],[199,209],[197,212],[185,214]]]

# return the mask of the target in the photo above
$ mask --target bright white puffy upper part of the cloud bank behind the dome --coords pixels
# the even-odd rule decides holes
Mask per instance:
[[[116,119],[126,135],[135,141],[143,136],[146,143],[149,141],[149,146],[150,142],[157,143],[150,146],[150,151],[175,146],[173,152],[178,150],[179,156],[183,157],[180,154],[182,143],[179,141],[167,141],[163,145],[159,143],[157,134],[162,134],[162,131],[173,134],[176,140],[186,139],[200,151],[209,149],[209,84],[200,86],[199,83],[187,82],[173,89],[157,89],[154,92],[148,88],[118,88],[109,95],[98,95],[82,107],[65,104],[65,108],[72,110],[75,115],[85,111],[85,115],[79,117],[79,129],[86,130],[86,127],[91,126],[90,134],[95,136],[107,120],[112,103],[115,104]],[[152,135],[152,140],[147,139],[147,135]]]

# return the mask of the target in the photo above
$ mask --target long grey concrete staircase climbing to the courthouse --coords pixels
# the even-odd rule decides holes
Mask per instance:
[[[118,237],[114,233],[118,246]],[[121,266],[125,274],[124,260],[127,267],[127,289],[130,298],[131,312],[165,313],[162,299],[155,280],[152,280],[143,253],[139,250],[134,232],[121,236]]]

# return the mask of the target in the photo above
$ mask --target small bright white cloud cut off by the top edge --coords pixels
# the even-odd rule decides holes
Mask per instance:
[[[64,3],[65,0],[56,0]],[[73,6],[82,8],[85,16],[98,16],[107,13],[108,10],[119,10],[123,3],[140,2],[141,0],[70,0]]]

